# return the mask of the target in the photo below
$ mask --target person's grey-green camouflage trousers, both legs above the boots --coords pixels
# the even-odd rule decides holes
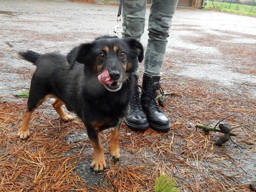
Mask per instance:
[[[165,58],[167,37],[178,0],[152,0],[148,19],[148,42],[144,74],[159,76]],[[140,40],[144,33],[146,0],[124,0],[123,37]],[[136,74],[137,75],[137,74]]]

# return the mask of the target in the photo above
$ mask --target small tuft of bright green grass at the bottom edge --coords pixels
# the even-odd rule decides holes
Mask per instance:
[[[179,192],[181,188],[177,188],[174,185],[176,181],[169,175],[162,174],[155,179],[155,192]]]

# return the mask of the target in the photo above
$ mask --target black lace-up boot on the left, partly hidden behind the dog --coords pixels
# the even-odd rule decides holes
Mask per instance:
[[[146,130],[148,123],[139,99],[140,94],[137,85],[137,77],[134,91],[134,95],[130,101],[130,111],[124,120],[126,125],[134,131]]]

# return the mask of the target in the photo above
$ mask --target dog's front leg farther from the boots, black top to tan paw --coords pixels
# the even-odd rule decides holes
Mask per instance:
[[[99,133],[93,127],[89,128],[88,126],[86,126],[86,128],[87,128],[87,134],[89,136],[89,140],[93,147],[93,160],[91,163],[91,168],[93,168],[93,170],[96,172],[102,171],[104,167],[106,167],[106,162],[105,162],[104,151],[101,145]]]

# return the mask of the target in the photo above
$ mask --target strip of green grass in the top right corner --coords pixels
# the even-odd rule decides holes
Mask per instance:
[[[231,6],[229,3],[222,3],[222,2],[217,2],[213,1],[214,6],[212,5],[212,2],[209,1],[208,5],[205,5],[204,8],[206,9],[218,9],[219,11],[225,11],[229,13],[235,13],[239,15],[246,15],[246,16],[253,16],[256,17],[256,5],[252,6],[251,5],[241,5],[241,4],[234,4],[231,3]],[[256,2],[255,2],[256,4]],[[229,8],[230,6],[230,8]],[[251,10],[252,9],[252,10]]]

